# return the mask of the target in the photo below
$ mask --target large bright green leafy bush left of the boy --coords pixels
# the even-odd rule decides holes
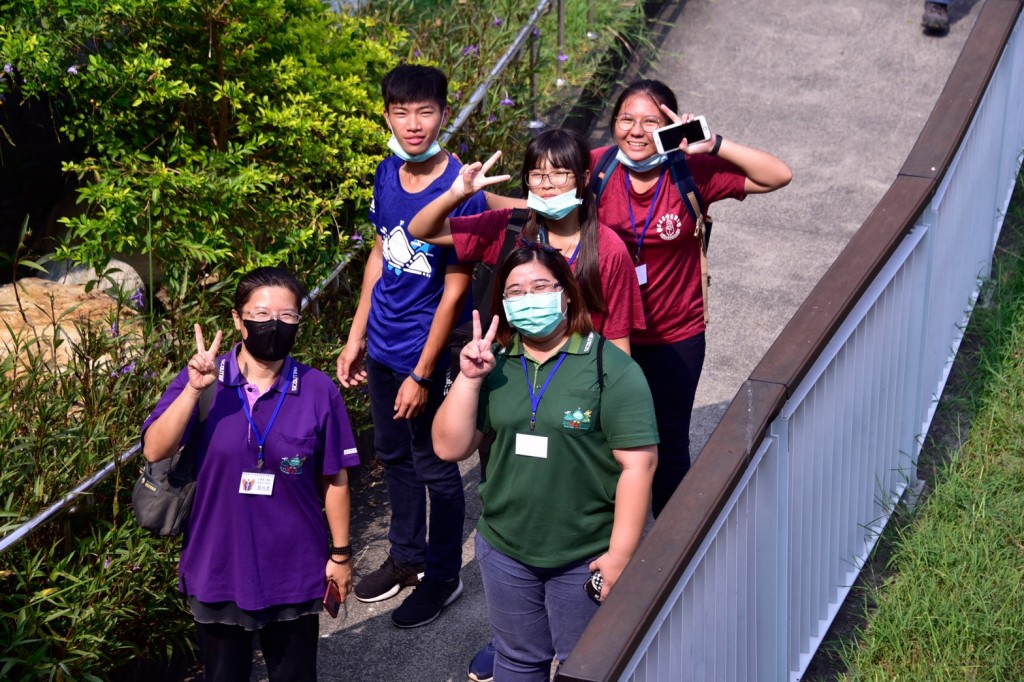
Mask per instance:
[[[172,301],[225,267],[322,272],[357,233],[397,31],[318,0],[14,0],[0,91],[54,110],[79,160],[58,255],[152,253]]]

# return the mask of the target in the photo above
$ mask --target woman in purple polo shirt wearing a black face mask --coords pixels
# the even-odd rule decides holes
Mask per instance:
[[[326,586],[342,601],[352,589],[344,467],[358,456],[334,382],[288,354],[302,297],[285,270],[246,274],[242,342],[218,356],[220,332],[207,348],[197,325],[196,354],[142,425],[146,460],[170,457],[213,391],[178,573],[210,680],[249,680],[257,630],[270,680],[315,680]]]

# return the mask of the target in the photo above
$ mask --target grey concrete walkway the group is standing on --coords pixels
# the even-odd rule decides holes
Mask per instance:
[[[643,76],[672,86],[713,132],[772,152],[793,168],[774,195],[717,205],[711,247],[712,327],[697,392],[693,453],[798,305],[896,177],[978,13],[956,0],[944,38],[922,34],[919,0],[689,0]],[[599,119],[602,129],[608,113]],[[592,141],[606,143],[602,131]],[[465,472],[465,594],[433,624],[398,630],[379,604],[354,599],[347,616],[322,616],[322,680],[466,679],[489,638],[472,528],[476,460]],[[355,505],[368,504],[356,499]],[[356,574],[387,552],[387,510],[353,528]],[[259,672],[254,679],[265,679]]]

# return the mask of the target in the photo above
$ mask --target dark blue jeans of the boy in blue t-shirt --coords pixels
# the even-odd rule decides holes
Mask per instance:
[[[374,450],[384,465],[391,502],[390,555],[404,563],[425,563],[436,581],[459,577],[466,496],[455,462],[434,455],[430,426],[441,401],[444,371],[434,373],[427,409],[414,419],[394,419],[398,388],[409,377],[367,355]],[[430,496],[430,540],[427,540],[427,496]]]

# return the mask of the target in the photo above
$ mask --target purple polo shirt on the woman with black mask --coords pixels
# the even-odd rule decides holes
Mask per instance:
[[[318,599],[330,539],[319,475],[358,464],[348,414],[327,375],[287,357],[281,376],[251,413],[259,433],[266,433],[261,471],[274,475],[273,494],[240,494],[243,472],[257,470],[259,446],[242,408],[246,379],[239,371],[239,345],[217,358],[218,382],[197,452],[199,477],[178,589],[200,601],[233,601],[247,610]],[[145,420],[143,438],[187,382],[185,369]],[[267,432],[282,391],[285,398]],[[198,421],[197,408],[182,442]]]

